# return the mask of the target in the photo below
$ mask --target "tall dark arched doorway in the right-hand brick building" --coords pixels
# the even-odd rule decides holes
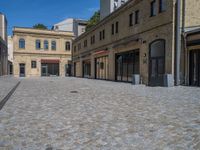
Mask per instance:
[[[153,41],[149,48],[149,85],[163,86],[165,74],[165,40]]]

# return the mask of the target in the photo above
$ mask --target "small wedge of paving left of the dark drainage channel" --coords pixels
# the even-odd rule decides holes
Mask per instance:
[[[19,82],[19,79],[10,76],[0,77],[0,101]]]

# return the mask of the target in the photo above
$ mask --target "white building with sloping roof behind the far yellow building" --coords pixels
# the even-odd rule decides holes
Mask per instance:
[[[59,31],[70,31],[74,33],[75,37],[78,37],[85,32],[86,26],[86,20],[69,18],[55,24],[53,29]]]

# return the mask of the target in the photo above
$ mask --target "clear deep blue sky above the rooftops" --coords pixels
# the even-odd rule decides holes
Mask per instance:
[[[48,28],[66,18],[89,19],[99,9],[99,0],[0,0],[0,12],[12,27],[32,27],[43,23]]]

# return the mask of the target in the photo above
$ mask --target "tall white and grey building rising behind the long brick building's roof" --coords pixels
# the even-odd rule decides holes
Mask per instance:
[[[100,15],[101,20],[118,9],[128,0],[100,0]]]

